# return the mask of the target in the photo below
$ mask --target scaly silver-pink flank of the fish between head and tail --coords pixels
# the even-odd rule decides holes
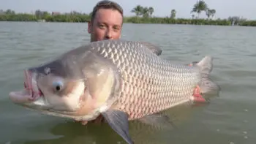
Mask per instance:
[[[140,42],[97,42],[91,49],[110,59],[121,74],[121,91],[116,107],[129,119],[157,113],[190,96],[200,74],[195,67],[171,64]]]

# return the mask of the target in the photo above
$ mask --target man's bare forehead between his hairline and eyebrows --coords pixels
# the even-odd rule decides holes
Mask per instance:
[[[121,25],[123,17],[118,10],[99,9],[96,12],[94,21],[98,23],[109,23],[113,25]]]

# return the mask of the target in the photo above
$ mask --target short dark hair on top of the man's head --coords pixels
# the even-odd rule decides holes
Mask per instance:
[[[117,4],[116,2],[114,1],[109,1],[109,0],[102,0],[102,1],[99,1],[95,7],[94,7],[94,10],[92,10],[91,12],[91,23],[93,23],[93,20],[95,18],[95,15],[97,13],[97,11],[99,9],[112,9],[112,10],[117,10],[118,12],[120,12],[121,16],[123,17],[124,15],[124,12],[123,12],[123,8]]]

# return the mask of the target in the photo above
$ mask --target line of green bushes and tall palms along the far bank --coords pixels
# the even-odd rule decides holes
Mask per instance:
[[[219,25],[219,26],[256,26],[256,20],[246,20],[238,16],[230,16],[225,19],[214,20],[216,10],[208,7],[205,1],[197,1],[191,10],[192,18],[176,18],[176,10],[170,10],[170,15],[165,18],[154,17],[154,7],[143,7],[137,5],[131,10],[135,16],[124,17],[124,23],[167,23],[167,24],[192,24],[192,25]],[[200,18],[202,12],[205,12],[206,19]],[[47,21],[47,22],[71,22],[84,23],[89,21],[91,13],[81,12],[46,12],[37,10],[33,14],[16,13],[13,10],[0,10],[0,21]]]

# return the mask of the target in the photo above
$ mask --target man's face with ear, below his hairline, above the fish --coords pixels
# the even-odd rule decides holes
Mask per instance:
[[[99,9],[94,21],[88,23],[91,42],[103,39],[119,39],[123,18],[118,10]]]

